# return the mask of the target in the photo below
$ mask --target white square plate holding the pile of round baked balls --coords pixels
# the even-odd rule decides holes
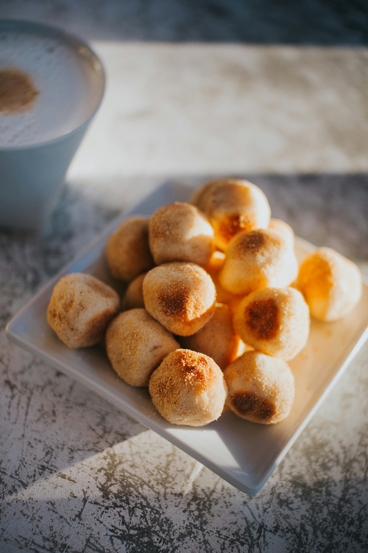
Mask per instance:
[[[164,185],[130,213],[115,220],[19,311],[7,326],[7,335],[189,453],[236,488],[254,494],[262,488],[367,338],[366,284],[360,304],[345,319],[331,324],[312,320],[307,346],[290,362],[296,382],[290,415],[270,426],[239,419],[228,409],[220,419],[204,427],[171,425],[155,412],[147,388],[133,388],[115,374],[103,348],[68,349],[46,322],[47,304],[61,276],[90,273],[116,287],[106,267],[104,247],[109,234],[124,218],[134,213],[151,215],[164,204],[188,200],[191,192],[193,189],[189,186]],[[299,261],[313,249],[308,242],[297,239]]]

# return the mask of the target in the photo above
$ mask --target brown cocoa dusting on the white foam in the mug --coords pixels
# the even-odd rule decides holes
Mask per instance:
[[[0,112],[10,115],[31,109],[38,95],[30,76],[23,71],[0,70]]]

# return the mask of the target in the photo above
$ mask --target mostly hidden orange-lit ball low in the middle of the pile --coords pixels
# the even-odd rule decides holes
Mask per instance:
[[[234,333],[232,311],[215,304],[214,315],[198,332],[181,338],[182,347],[208,355],[223,371],[237,356],[240,338]]]

